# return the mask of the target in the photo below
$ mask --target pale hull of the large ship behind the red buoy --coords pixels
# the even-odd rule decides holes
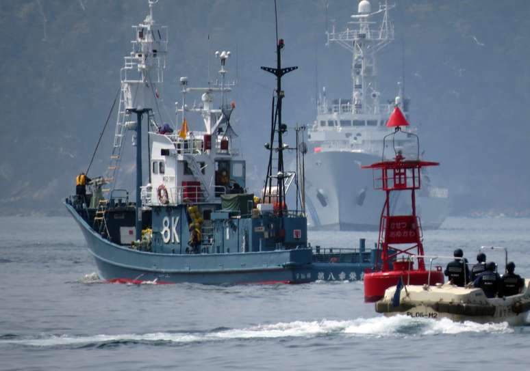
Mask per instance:
[[[313,230],[379,230],[384,192],[374,189],[373,173],[361,169],[380,158],[356,152],[318,152],[305,158],[306,207]],[[416,193],[422,227],[440,228],[449,212],[446,195],[431,192],[425,184]],[[394,212],[408,214],[410,200],[392,194]],[[438,196],[438,197],[437,197]]]

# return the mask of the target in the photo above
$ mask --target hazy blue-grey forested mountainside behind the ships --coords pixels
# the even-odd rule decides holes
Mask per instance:
[[[299,66],[284,82],[285,122],[309,124],[316,87],[329,97],[351,92],[351,55],[326,47],[324,31],[332,19],[345,26],[357,1],[278,4],[285,65]],[[147,0],[1,1],[0,214],[62,212],[114,100],[131,25],[146,14]],[[390,15],[396,41],[379,56],[379,89],[396,95],[404,59],[412,121],[427,159],[442,163],[453,214],[529,215],[530,1],[397,0]],[[169,27],[169,113],[179,77],[205,85],[209,59],[212,77],[218,70],[214,51],[232,51],[233,123],[260,187],[274,79],[259,67],[275,63],[273,1],[160,0],[155,19]],[[108,165],[115,120],[89,175]]]

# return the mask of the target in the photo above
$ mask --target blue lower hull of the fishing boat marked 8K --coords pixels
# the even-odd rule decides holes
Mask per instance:
[[[314,262],[311,249],[246,253],[151,253],[117,245],[94,232],[75,208],[66,208],[81,228],[101,279],[111,282],[176,284],[304,284],[362,279],[371,262],[344,262],[332,257]],[[372,254],[373,255],[373,254]],[[322,256],[320,256],[322,258]]]

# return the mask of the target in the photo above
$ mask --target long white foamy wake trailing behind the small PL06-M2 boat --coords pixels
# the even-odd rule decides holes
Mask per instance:
[[[35,338],[17,335],[0,336],[0,346],[103,348],[127,344],[186,345],[227,340],[267,340],[277,338],[361,337],[406,338],[412,336],[457,333],[513,333],[507,323],[481,325],[475,322],[453,322],[393,316],[390,318],[357,318],[355,320],[316,320],[279,322],[243,329],[217,328],[211,331],[126,333],[118,335],[47,335]]]

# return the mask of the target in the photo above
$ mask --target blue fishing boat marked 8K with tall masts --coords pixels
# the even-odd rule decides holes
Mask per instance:
[[[91,193],[81,191],[65,202],[84,234],[99,276],[134,284],[362,279],[364,271],[373,267],[375,251],[365,249],[364,241],[359,248],[312,247],[307,242],[305,206],[298,199],[294,210],[286,205],[289,184],[296,176],[283,167],[283,154],[289,148],[283,141],[288,128],[281,123],[285,94],[281,78],[296,67],[281,65],[283,40],[277,39],[277,66],[262,67],[275,75],[277,84],[265,184],[254,196],[247,192],[246,163],[230,124],[236,105],[227,99],[232,88],[225,80],[229,51],[216,52],[220,83],[194,88],[181,77],[183,98],[177,105],[181,127],[162,121],[168,29],[155,22],[155,3],[149,1],[147,17],[133,27],[132,51],[121,69],[110,166],[105,175],[88,182]],[[194,93],[201,94],[201,103],[189,107],[186,96]],[[216,96],[220,96],[217,106]],[[203,130],[190,130],[192,114],[201,116]],[[136,146],[136,184],[119,189],[116,178],[123,174],[128,133]],[[142,151],[146,144],[147,156]],[[80,183],[86,180],[83,177],[78,177]]]

